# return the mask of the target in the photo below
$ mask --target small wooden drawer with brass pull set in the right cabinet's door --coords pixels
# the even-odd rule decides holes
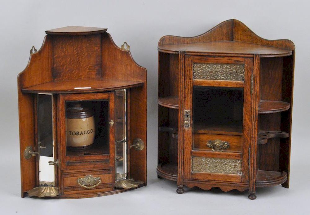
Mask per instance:
[[[212,142],[210,142],[210,144],[207,144],[209,141]],[[223,147],[223,142],[227,142],[228,144]],[[193,134],[193,150],[223,150],[223,152],[241,152],[242,136],[195,133]]]

